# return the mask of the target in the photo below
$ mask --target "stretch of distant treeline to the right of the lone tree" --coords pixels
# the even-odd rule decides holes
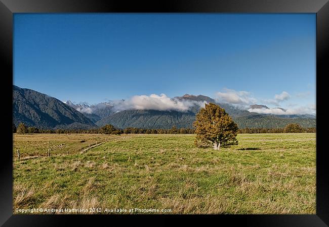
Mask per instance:
[[[237,133],[316,133],[316,128],[303,128],[299,124],[288,124],[284,128],[244,128]]]

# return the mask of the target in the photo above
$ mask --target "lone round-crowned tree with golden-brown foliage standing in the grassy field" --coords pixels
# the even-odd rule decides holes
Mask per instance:
[[[193,123],[196,133],[195,144],[198,147],[212,145],[215,150],[221,146],[237,145],[237,125],[219,105],[205,104],[196,115]]]

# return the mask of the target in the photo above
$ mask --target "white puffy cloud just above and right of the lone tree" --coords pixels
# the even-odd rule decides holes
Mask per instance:
[[[257,102],[257,99],[253,98],[250,92],[235,91],[227,88],[225,88],[224,90],[225,92],[216,93],[216,101],[240,105],[250,105]]]

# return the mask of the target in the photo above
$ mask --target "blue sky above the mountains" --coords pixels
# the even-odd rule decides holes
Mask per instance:
[[[315,14],[15,14],[13,83],[62,101],[300,108],[315,104],[315,51]]]

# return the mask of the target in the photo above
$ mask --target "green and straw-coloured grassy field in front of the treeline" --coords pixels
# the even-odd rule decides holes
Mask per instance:
[[[140,208],[171,214],[315,214],[315,134],[239,134],[239,145],[220,151],[196,148],[194,137],[15,135],[13,155],[20,149],[27,158],[13,163],[14,213],[29,208],[150,213],[135,210]],[[80,152],[80,146],[101,138],[108,141]],[[53,156],[44,156],[49,145],[63,143]]]

